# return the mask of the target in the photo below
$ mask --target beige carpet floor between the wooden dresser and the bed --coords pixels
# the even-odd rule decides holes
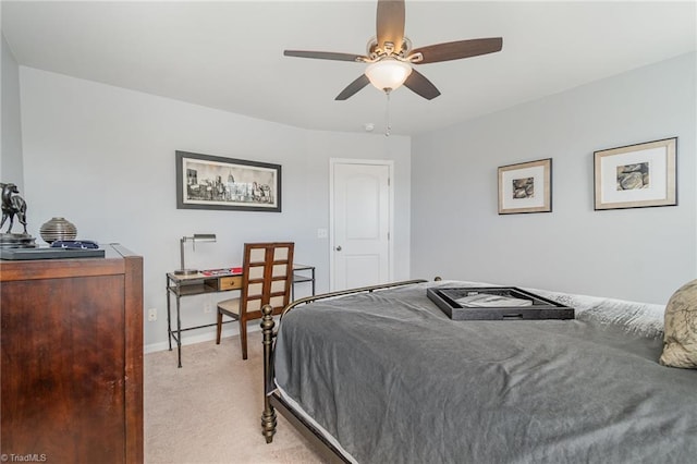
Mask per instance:
[[[237,337],[145,355],[145,462],[321,463],[308,442],[278,417],[273,442],[261,436],[261,332],[249,333],[242,361]]]

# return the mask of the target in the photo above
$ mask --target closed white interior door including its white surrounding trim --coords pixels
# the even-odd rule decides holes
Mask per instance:
[[[332,160],[330,169],[331,290],[390,281],[392,162]]]

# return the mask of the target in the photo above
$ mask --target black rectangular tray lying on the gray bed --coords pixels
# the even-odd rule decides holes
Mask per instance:
[[[428,289],[426,294],[453,320],[574,318],[574,308],[515,286]]]

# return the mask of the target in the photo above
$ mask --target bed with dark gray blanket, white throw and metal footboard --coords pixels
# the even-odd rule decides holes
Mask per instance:
[[[664,306],[527,289],[570,320],[451,320],[407,281],[302,298],[265,343],[276,411],[339,462],[687,463],[697,370],[661,366]]]

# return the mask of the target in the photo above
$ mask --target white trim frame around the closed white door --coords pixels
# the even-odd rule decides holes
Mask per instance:
[[[390,159],[329,159],[329,291],[337,289],[334,279],[334,167],[337,164],[371,164],[388,167],[388,280],[394,280],[394,161]]]

